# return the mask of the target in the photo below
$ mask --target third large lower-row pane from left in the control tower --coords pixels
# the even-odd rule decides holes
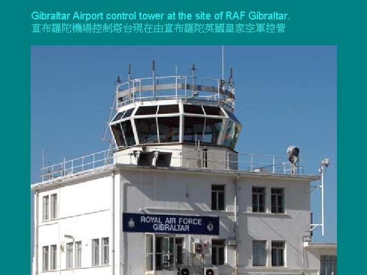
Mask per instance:
[[[135,126],[140,144],[158,143],[158,133],[155,118],[135,119]]]

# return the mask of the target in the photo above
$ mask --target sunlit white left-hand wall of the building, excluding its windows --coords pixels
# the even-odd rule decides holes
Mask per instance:
[[[58,218],[42,221],[43,196],[51,194],[57,194]],[[57,271],[61,269],[63,274],[74,272],[74,270],[64,270],[66,269],[66,243],[73,241],[71,238],[64,237],[65,234],[73,236],[74,241],[82,241],[82,269],[77,269],[78,274],[100,274],[111,269],[111,267],[92,267],[92,239],[110,237],[111,240],[110,175],[77,180],[71,185],[63,184],[54,189],[41,191],[39,206],[39,272],[42,271],[42,246],[53,244],[57,245]],[[99,242],[101,244],[101,240]],[[64,252],[61,252],[60,244],[65,246]],[[73,252],[75,253],[75,248]],[[75,258],[73,262],[75,264]]]

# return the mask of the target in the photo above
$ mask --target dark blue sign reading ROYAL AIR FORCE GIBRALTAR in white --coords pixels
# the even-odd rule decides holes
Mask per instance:
[[[123,231],[219,235],[219,217],[123,213]]]

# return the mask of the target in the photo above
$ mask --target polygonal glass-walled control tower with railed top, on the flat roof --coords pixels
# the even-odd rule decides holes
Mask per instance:
[[[130,78],[116,86],[117,114],[109,125],[115,163],[155,167],[237,169],[241,123],[228,81],[173,75]]]

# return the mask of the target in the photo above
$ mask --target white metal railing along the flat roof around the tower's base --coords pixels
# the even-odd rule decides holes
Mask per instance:
[[[158,152],[162,150],[162,147],[150,148],[152,152]],[[74,158],[71,160],[63,160],[60,163],[52,164],[41,168],[42,181],[52,180],[58,177],[64,177],[75,173],[93,171],[97,168],[109,167],[114,163],[114,153],[117,148],[100,151],[97,153],[85,155],[82,157]],[[163,150],[164,151],[164,150]],[[264,172],[264,173],[279,173],[279,174],[291,174],[292,167],[291,163],[287,160],[287,157],[275,156],[275,155],[258,155],[258,154],[237,154],[237,153],[224,153],[220,150],[209,150],[207,152],[207,160],[202,158],[201,150],[179,150],[170,149],[175,152],[172,154],[172,160],[180,159],[181,164],[179,167],[190,168],[191,163],[195,164],[194,168],[205,169],[204,161],[209,164],[218,164],[218,170],[234,170],[242,172]],[[195,153],[195,154],[193,154]],[[216,155],[217,154],[217,155]],[[135,164],[132,161],[133,156],[130,150],[119,152],[119,156],[126,156],[126,159],[130,159],[127,164]],[[182,162],[183,160],[183,162]],[[300,165],[302,159],[297,163],[295,168],[296,174],[303,174],[304,167]],[[125,163],[125,162],[124,162]],[[205,164],[207,164],[205,163]],[[210,166],[210,165],[209,165]],[[177,167],[177,166],[175,166]],[[233,168],[234,167],[234,168]]]

